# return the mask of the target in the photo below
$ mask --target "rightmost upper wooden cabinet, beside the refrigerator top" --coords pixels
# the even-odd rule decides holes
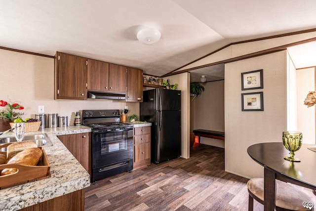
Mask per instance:
[[[135,68],[127,69],[126,102],[143,102],[143,71]]]

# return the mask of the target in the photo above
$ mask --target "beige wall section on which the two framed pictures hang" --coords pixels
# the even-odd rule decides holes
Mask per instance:
[[[256,143],[281,142],[286,129],[286,51],[225,65],[225,170],[247,178],[263,168],[247,154]],[[263,89],[241,91],[243,72],[263,69]],[[263,91],[264,111],[241,111],[241,93]]]

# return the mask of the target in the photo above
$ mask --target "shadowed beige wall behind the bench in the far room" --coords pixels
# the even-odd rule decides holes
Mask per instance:
[[[224,81],[203,83],[204,91],[191,102],[193,129],[225,131]],[[193,98],[191,98],[193,99]],[[193,130],[192,129],[192,130]],[[224,148],[224,141],[201,137],[202,144]]]

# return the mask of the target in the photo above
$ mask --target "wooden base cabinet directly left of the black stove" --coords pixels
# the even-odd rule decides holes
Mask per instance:
[[[59,135],[57,137],[90,174],[90,133]]]

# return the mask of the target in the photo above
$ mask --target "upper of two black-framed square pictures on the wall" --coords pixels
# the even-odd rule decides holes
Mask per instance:
[[[241,73],[241,90],[263,88],[263,69]]]

